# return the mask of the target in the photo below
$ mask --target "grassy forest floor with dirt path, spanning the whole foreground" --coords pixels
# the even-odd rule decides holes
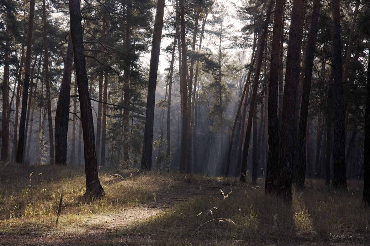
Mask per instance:
[[[0,245],[370,244],[359,181],[308,180],[290,205],[265,195],[264,179],[130,170],[100,181],[104,197],[85,200],[81,168],[0,163]]]

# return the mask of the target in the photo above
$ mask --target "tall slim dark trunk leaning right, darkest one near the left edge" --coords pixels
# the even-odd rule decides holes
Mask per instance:
[[[21,110],[21,119],[19,122],[17,163],[23,163],[24,128],[26,124],[26,114],[27,114],[28,87],[30,85],[34,10],[35,10],[35,1],[31,0],[30,1],[30,17],[29,17],[29,22],[28,22],[28,33],[27,33],[27,52],[26,52],[26,67],[24,71],[22,110]]]

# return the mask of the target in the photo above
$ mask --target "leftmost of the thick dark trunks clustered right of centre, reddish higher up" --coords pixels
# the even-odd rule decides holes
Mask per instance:
[[[272,33],[271,65],[268,98],[268,159],[266,164],[265,193],[275,193],[279,166],[278,89],[280,46],[283,31],[284,0],[276,0]]]

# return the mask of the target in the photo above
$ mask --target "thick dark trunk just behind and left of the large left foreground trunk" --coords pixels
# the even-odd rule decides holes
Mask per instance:
[[[71,32],[68,35],[67,54],[64,60],[64,74],[55,112],[55,164],[67,165],[67,136],[70,110],[73,47]]]

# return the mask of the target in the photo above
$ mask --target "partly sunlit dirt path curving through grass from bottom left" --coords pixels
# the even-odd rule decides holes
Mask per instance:
[[[154,201],[122,207],[120,211],[109,214],[90,214],[74,225],[52,227],[43,233],[30,226],[24,230],[24,235],[0,232],[0,245],[130,245],[137,242],[135,237],[142,236],[136,227],[141,221],[158,216],[164,209],[175,204],[204,194],[219,193],[221,197],[220,189],[230,190],[226,186],[228,184],[218,181],[208,183],[175,181],[158,190],[158,194],[154,195]],[[131,235],[112,236],[120,233],[122,228],[129,228]],[[151,244],[150,236],[147,245]]]

